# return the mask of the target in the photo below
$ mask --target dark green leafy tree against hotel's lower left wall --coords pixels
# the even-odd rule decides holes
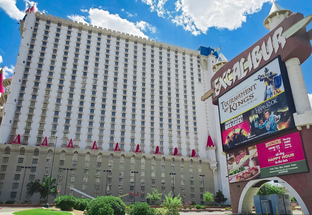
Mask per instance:
[[[40,198],[47,198],[48,196],[48,189],[49,189],[49,182],[50,182],[50,176],[43,178],[42,183],[40,183],[40,179],[37,179],[35,181],[29,182],[26,187],[29,195],[33,195],[35,193],[40,194]],[[57,189],[54,185],[56,182],[56,179],[51,179],[50,184],[50,195],[56,196]]]

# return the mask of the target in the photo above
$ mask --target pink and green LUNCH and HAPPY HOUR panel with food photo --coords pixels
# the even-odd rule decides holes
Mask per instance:
[[[308,171],[300,132],[227,154],[229,182]]]

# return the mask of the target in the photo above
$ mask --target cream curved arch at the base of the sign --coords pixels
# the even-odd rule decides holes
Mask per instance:
[[[305,203],[303,202],[299,194],[295,191],[295,189],[293,189],[286,181],[279,177],[269,177],[266,179],[255,179],[249,181],[241,192],[238,203],[238,214],[251,214],[253,206],[253,196],[256,195],[256,193],[263,184],[273,180],[278,180],[279,183],[282,182],[283,186],[288,189],[292,195],[294,195],[294,197],[300,204],[303,214],[309,214]]]

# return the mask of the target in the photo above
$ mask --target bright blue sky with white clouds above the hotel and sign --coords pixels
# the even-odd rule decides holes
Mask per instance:
[[[281,7],[312,14],[310,0],[279,0]],[[28,0],[0,0],[0,65],[9,77],[16,63],[20,45],[19,22]],[[246,50],[269,30],[263,21],[269,14],[271,0],[102,0],[36,2],[37,9],[92,25],[122,31],[157,41],[196,50],[200,45],[217,48],[228,60]],[[312,24],[307,26],[310,30]],[[302,70],[312,100],[312,57]]]

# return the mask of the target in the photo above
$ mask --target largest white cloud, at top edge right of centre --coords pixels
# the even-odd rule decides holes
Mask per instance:
[[[272,0],[177,0],[174,11],[168,11],[164,5],[168,0],[141,0],[149,5],[151,12],[156,11],[159,17],[174,18],[172,22],[182,26],[193,35],[206,33],[209,28],[235,30],[246,22],[246,16],[261,10],[264,2]]]

